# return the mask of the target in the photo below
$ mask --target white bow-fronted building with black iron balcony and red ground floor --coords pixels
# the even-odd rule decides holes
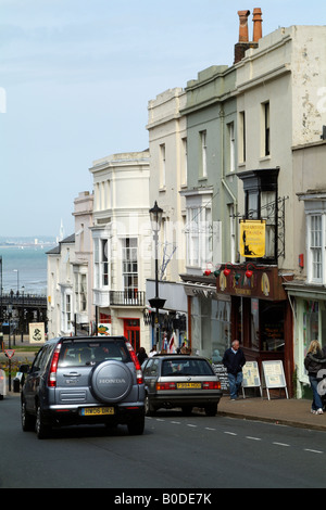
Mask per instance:
[[[149,152],[113,154],[93,162],[93,288],[100,334],[125,335],[150,349],[145,321],[151,275]]]

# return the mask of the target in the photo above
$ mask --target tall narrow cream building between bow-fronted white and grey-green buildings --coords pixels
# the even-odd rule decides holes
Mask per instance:
[[[159,296],[165,304],[160,311],[160,347],[164,347],[164,333],[168,340],[174,334],[175,346],[181,345],[187,335],[187,296],[179,277],[185,271],[186,254],[186,203],[180,194],[187,187],[187,124],[186,117],[180,115],[185,104],[181,88],[166,90],[148,103],[149,199],[151,207],[156,201],[163,209],[159,235]],[[154,275],[152,257],[147,299],[155,297]],[[155,343],[156,339],[152,335],[151,341]]]

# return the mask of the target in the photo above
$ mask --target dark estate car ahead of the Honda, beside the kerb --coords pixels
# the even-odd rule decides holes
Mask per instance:
[[[193,407],[215,416],[222,397],[221,382],[210,361],[200,356],[158,355],[142,364],[146,415],[159,408],[180,407],[190,413]]]

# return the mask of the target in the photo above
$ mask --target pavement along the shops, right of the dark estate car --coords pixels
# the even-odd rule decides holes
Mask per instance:
[[[326,432],[326,411],[312,415],[311,400],[306,399],[240,397],[230,400],[224,395],[218,404],[218,415]]]

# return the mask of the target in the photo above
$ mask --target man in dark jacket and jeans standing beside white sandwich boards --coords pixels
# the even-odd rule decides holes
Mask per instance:
[[[243,378],[242,367],[246,365],[246,357],[238,340],[234,340],[231,346],[225,350],[222,362],[227,369],[230,399],[236,400]]]

